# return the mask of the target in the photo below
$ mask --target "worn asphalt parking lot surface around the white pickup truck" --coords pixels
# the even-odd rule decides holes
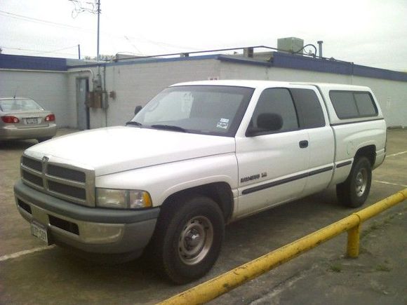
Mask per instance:
[[[61,129],[58,135],[75,130]],[[407,130],[389,130],[387,158],[373,172],[368,202],[407,187]],[[0,143],[0,304],[155,304],[353,212],[335,189],[227,226],[207,276],[172,285],[143,259],[89,262],[30,235],[15,208],[20,156],[35,140]],[[363,224],[361,255],[347,259],[346,234],[211,301],[211,304],[407,304],[406,201]]]

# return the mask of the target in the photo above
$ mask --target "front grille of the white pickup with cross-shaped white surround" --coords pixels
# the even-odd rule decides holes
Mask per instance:
[[[44,157],[22,156],[22,181],[46,194],[81,205],[95,206],[95,173]]]

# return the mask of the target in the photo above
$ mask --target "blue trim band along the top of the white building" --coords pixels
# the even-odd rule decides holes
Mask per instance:
[[[257,46],[253,48],[267,48],[273,50],[270,52],[270,60],[260,60],[255,57],[243,57],[242,55],[225,55],[221,53],[213,54],[216,51],[238,50],[222,49],[208,50],[202,52],[179,53],[178,57],[175,54],[156,55],[149,57],[138,57],[134,59],[120,60],[118,62],[100,62],[86,65],[67,65],[67,59],[57,57],[34,57],[22,55],[0,54],[0,69],[24,69],[24,70],[45,70],[63,72],[69,69],[91,68],[91,67],[114,67],[121,65],[140,65],[152,62],[180,62],[189,60],[220,60],[221,62],[235,62],[243,65],[256,65],[262,67],[276,67],[286,69],[300,69],[305,71],[314,71],[331,74],[354,75],[368,77],[372,79],[388,79],[391,81],[407,82],[407,73],[396,72],[387,69],[367,67],[363,65],[355,65],[353,62],[342,62],[339,60],[331,60],[328,58],[308,57],[298,54],[276,52],[275,48],[266,46]],[[241,48],[240,48],[241,49]],[[205,55],[193,55],[199,53],[212,53]],[[256,54],[256,53],[255,53]],[[180,56],[183,57],[180,57]],[[160,57],[161,56],[161,57]]]

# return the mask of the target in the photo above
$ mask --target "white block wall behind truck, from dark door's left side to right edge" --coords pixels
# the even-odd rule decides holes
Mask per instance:
[[[81,69],[81,68],[78,68]],[[88,70],[92,70],[89,72]],[[323,83],[347,83],[372,88],[388,126],[407,126],[407,86],[402,81],[388,81],[344,74],[311,72],[299,69],[243,65],[216,59],[178,60],[107,65],[105,89],[114,91],[116,98],[108,97],[109,108],[90,109],[91,128],[124,125],[133,117],[135,106],[144,106],[161,90],[173,83],[183,81],[219,79],[265,79],[272,81],[304,81]],[[69,70],[67,81],[67,120],[69,127],[76,128],[76,78],[92,79],[98,72],[96,67],[87,71]]]

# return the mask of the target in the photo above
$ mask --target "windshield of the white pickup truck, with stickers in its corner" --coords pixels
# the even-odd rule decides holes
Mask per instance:
[[[132,126],[233,137],[253,88],[175,86],[154,97]],[[139,123],[141,125],[139,125]]]

